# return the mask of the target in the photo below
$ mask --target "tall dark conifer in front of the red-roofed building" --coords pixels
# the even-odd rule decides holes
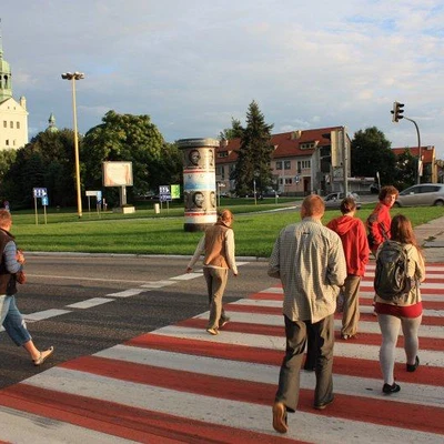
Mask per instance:
[[[273,124],[265,123],[264,115],[253,100],[246,112],[246,127],[242,131],[238,161],[231,176],[235,181],[238,195],[250,194],[254,182],[260,194],[272,184],[272,129]]]

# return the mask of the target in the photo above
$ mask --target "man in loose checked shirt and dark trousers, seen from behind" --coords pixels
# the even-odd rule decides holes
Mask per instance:
[[[306,196],[301,222],[281,231],[270,258],[269,275],[280,279],[284,289],[286,347],[273,404],[273,427],[280,433],[287,432],[286,414],[297,407],[309,334],[315,336],[317,347],[314,408],[333,402],[334,312],[346,264],[340,236],[322,225],[324,211],[322,198]]]

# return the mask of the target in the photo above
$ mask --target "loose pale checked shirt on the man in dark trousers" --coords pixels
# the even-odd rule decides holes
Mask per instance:
[[[281,279],[290,320],[314,323],[333,314],[346,278],[340,236],[313,218],[287,225],[274,243],[269,275]]]

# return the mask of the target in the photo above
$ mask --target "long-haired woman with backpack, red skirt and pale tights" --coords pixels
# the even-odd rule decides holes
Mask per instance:
[[[401,390],[394,380],[395,349],[400,327],[404,334],[404,350],[406,355],[406,371],[414,372],[420,365],[417,356],[418,339],[417,331],[423,316],[423,305],[421,302],[420,282],[425,279],[425,264],[422,251],[416,242],[410,220],[403,214],[396,214],[390,226],[391,240],[384,242],[376,252],[376,278],[375,278],[375,312],[382,333],[382,344],[380,349],[380,365],[384,377],[383,393],[390,395]],[[397,244],[397,245],[396,245]],[[396,246],[402,246],[406,258],[405,274],[410,280],[404,292],[389,294],[390,292],[379,291],[377,280],[383,281],[384,275],[379,279],[379,259],[387,256],[387,251],[395,251]],[[392,261],[392,269],[397,261]],[[401,264],[401,262],[400,262]],[[401,266],[401,265],[400,265]],[[396,271],[397,278],[401,271]],[[381,274],[381,273],[380,273]],[[393,286],[398,284],[394,282]]]

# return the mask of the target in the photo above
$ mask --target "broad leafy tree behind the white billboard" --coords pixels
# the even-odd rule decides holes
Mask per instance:
[[[165,143],[149,115],[109,111],[101,124],[87,132],[81,158],[85,167],[84,184],[89,188],[102,185],[102,162],[131,161],[133,186],[128,190],[129,201],[160,184],[171,183],[182,171],[176,147]],[[107,190],[110,203],[117,202],[117,192]]]

